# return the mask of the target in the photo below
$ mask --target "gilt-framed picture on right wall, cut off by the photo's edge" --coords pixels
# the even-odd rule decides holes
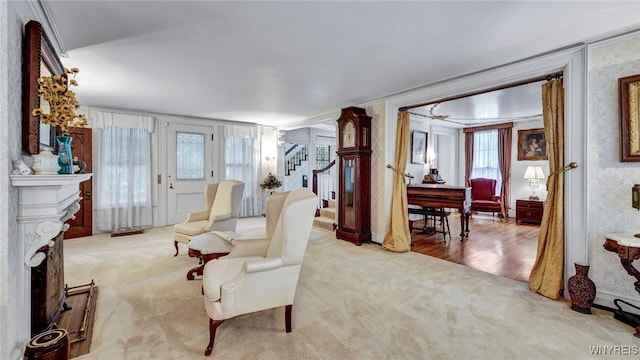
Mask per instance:
[[[640,161],[640,75],[618,79],[620,161]]]

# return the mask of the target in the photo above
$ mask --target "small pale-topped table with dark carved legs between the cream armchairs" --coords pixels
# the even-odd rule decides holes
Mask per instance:
[[[189,256],[200,259],[200,265],[187,272],[187,280],[195,279],[195,275],[202,276],[207,262],[229,254],[234,242],[215,233],[204,233],[189,239]]]

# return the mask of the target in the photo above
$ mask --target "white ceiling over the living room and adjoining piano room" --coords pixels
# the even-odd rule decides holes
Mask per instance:
[[[280,127],[640,28],[639,1],[46,5],[68,53],[63,63],[80,68],[80,103]],[[434,112],[511,116],[514,96]]]

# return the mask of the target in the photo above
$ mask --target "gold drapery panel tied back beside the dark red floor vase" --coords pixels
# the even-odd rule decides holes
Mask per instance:
[[[542,85],[542,116],[549,156],[547,203],[540,234],[538,252],[529,275],[531,291],[550,299],[560,298],[564,260],[564,88],[562,79]]]

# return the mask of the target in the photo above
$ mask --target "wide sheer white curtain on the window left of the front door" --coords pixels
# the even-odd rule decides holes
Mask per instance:
[[[94,191],[96,231],[153,226],[153,118],[97,112],[92,124],[94,143],[98,148],[94,158],[94,166],[98,169]]]

